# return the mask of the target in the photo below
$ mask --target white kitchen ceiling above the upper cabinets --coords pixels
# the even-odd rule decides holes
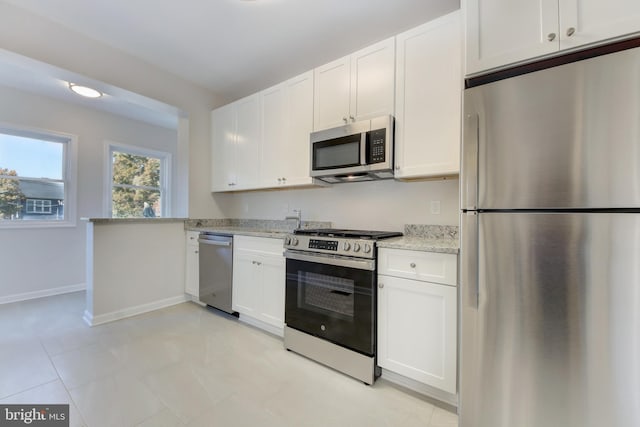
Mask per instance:
[[[458,9],[459,0],[3,0],[237,99]]]

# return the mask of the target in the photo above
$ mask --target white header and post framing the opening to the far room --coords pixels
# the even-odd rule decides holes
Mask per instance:
[[[167,31],[171,31],[170,28]],[[203,40],[206,46],[206,40]],[[211,91],[57,23],[0,2],[0,48],[173,105],[188,114],[177,162],[188,167],[177,197],[193,218],[219,216],[211,197],[210,113],[224,103]],[[185,159],[184,157],[188,158]],[[188,193],[188,196],[187,196]]]

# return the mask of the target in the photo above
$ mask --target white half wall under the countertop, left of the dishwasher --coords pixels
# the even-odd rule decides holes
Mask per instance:
[[[90,325],[186,301],[184,224],[87,224],[87,308]]]

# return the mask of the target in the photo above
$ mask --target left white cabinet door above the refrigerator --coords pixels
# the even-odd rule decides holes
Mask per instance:
[[[467,74],[560,48],[558,0],[467,0],[466,17]]]

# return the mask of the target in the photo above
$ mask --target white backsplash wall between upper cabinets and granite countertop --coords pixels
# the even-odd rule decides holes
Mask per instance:
[[[338,228],[402,231],[404,224],[458,225],[458,180],[336,184],[327,188],[219,194],[230,218],[284,219],[302,209],[303,220]],[[431,202],[440,202],[440,214]]]

